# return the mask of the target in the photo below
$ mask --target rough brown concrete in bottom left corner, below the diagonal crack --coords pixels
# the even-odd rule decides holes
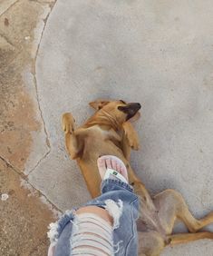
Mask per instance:
[[[55,220],[53,212],[41,202],[39,192],[29,196],[31,191],[21,186],[19,175],[2,160],[0,192],[9,195],[5,202],[0,202],[0,254],[31,255],[30,251],[44,241],[48,224]],[[41,246],[47,251],[48,241]]]

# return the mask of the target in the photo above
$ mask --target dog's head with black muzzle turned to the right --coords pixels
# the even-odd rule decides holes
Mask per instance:
[[[110,114],[119,123],[124,123],[131,119],[141,107],[140,103],[125,103],[122,100],[96,100],[90,103],[90,105],[97,111]]]

